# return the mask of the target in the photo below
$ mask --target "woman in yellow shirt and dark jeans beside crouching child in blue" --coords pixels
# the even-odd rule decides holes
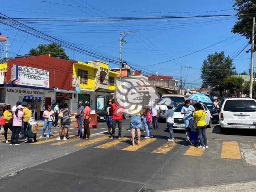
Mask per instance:
[[[200,103],[195,104],[195,113],[194,113],[194,121],[196,124],[196,131],[200,140],[200,145],[198,148],[205,149],[208,148],[207,145],[207,136],[206,136],[206,121],[204,118],[206,117],[206,112],[203,110],[202,105]]]

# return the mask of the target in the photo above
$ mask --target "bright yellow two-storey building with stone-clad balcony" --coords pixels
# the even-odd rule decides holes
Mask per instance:
[[[78,101],[88,101],[92,113],[101,110],[113,96],[117,75],[102,61],[73,62],[73,84],[80,88]]]

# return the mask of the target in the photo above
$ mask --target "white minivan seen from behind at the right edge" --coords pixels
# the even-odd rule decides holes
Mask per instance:
[[[226,128],[256,129],[256,101],[251,98],[225,99],[219,118],[221,132]]]

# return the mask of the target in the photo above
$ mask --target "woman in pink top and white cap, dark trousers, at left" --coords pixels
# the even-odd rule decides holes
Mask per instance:
[[[23,106],[19,105],[13,115],[13,124],[12,124],[12,137],[10,145],[20,145],[19,144],[19,134],[22,126],[23,119]]]

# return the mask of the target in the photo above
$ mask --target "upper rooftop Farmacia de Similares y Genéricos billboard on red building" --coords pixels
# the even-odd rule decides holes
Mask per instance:
[[[49,71],[14,65],[12,68],[12,80],[17,85],[49,88]]]

